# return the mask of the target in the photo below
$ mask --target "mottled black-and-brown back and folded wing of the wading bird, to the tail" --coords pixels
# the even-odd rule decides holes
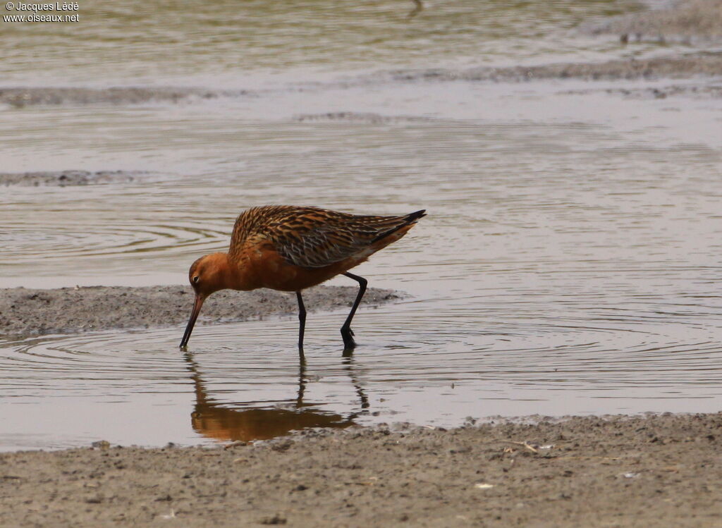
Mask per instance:
[[[229,253],[249,244],[271,243],[290,264],[304,268],[329,266],[359,254],[424,216],[360,216],[317,207],[271,205],[253,207],[235,222]]]

